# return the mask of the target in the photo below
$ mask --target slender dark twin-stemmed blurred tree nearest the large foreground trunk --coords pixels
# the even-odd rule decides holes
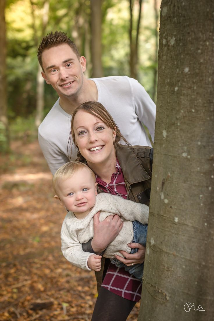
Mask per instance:
[[[135,14],[134,7],[138,9],[136,27],[134,27]],[[142,0],[129,0],[130,8],[130,75],[132,78],[138,78],[138,40],[141,22]]]

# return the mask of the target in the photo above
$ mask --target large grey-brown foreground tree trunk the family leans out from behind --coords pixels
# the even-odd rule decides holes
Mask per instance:
[[[213,0],[161,3],[154,165],[138,320],[213,320],[213,14]]]

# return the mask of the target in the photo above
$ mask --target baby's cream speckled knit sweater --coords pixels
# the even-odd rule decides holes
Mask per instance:
[[[93,216],[100,211],[99,220],[103,221],[107,216],[117,214],[121,216],[123,228],[118,236],[108,245],[103,256],[115,258],[118,251],[130,252],[131,248],[127,243],[133,240],[132,221],[139,221],[142,224],[148,223],[149,207],[145,204],[135,203],[116,195],[100,193],[96,196],[95,205],[90,213],[79,220],[73,212],[68,212],[62,224],[61,242],[64,257],[73,265],[84,270],[90,270],[87,265],[88,258],[93,253],[84,252],[82,243],[88,242],[93,237]]]

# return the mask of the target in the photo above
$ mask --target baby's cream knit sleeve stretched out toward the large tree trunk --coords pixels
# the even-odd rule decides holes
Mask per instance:
[[[101,195],[101,196],[100,196]],[[121,215],[128,221],[139,221],[142,224],[148,224],[149,218],[149,206],[141,203],[136,203],[130,200],[126,200],[117,195],[110,195],[107,193],[98,194],[100,199],[105,201],[100,202],[101,211],[110,212],[113,214]]]

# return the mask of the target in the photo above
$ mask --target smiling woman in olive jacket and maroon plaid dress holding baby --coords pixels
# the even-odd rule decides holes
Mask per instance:
[[[132,201],[149,205],[151,187],[152,152],[150,147],[119,144],[122,136],[107,110],[98,102],[85,102],[73,112],[71,122],[73,143],[78,148],[77,160],[86,162],[97,175],[98,191],[120,195]],[[118,216],[99,222],[94,216],[94,238],[83,245],[83,250],[100,254],[119,233],[122,223]],[[126,265],[142,263],[145,247],[135,254],[121,251],[116,256]],[[101,271],[96,273],[98,288],[92,321],[123,321],[141,295],[141,282],[116,268],[102,258]]]

